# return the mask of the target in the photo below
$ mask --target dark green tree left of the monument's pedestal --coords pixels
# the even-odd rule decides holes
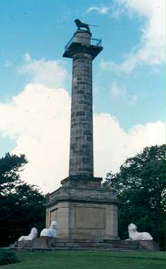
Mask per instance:
[[[20,180],[26,163],[25,155],[6,154],[0,159],[0,246],[15,242],[32,227],[45,226],[44,195]]]

